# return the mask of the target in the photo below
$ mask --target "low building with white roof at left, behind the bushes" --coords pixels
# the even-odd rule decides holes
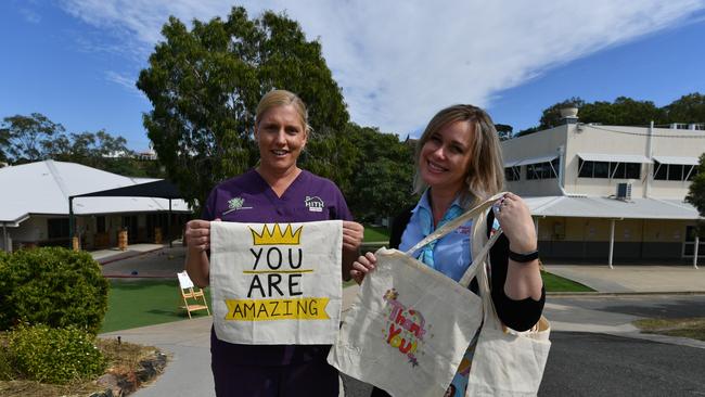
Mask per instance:
[[[118,234],[125,231],[130,244],[166,242],[180,235],[189,219],[191,209],[184,201],[161,198],[158,191],[152,196],[115,193],[158,181],[51,159],[0,168],[0,249],[68,247],[72,213],[84,249],[117,246]],[[106,191],[113,193],[103,194]]]

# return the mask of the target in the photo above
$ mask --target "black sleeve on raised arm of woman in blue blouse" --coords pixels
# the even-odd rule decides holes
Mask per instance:
[[[493,221],[495,214],[490,210],[487,217],[488,236]],[[497,316],[504,325],[512,330],[526,331],[530,329],[538,322],[543,311],[546,290],[541,286],[541,298],[539,300],[534,300],[531,297],[513,300],[504,294],[504,282],[507,281],[507,268],[509,266],[509,239],[504,234],[500,235],[490,248],[489,261],[492,272],[492,302],[497,309]]]

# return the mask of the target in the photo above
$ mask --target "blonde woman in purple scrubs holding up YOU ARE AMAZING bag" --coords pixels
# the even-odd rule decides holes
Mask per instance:
[[[209,283],[210,221],[307,222],[343,220],[343,274],[348,276],[362,242],[361,225],[338,188],[298,168],[310,127],[306,105],[274,90],[257,106],[255,141],[259,165],[213,189],[203,219],[187,223],[185,268],[198,286]],[[218,396],[337,396],[337,371],[328,364],[330,345],[239,345],[210,332],[211,369]]]

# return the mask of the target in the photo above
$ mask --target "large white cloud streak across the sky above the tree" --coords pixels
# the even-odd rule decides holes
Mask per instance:
[[[548,68],[688,21],[703,0],[251,1],[286,11],[343,87],[351,119],[406,135],[451,103],[488,106]],[[220,0],[65,0],[85,22],[126,35],[145,53],[168,15],[227,16]],[[144,61],[143,61],[144,62]]]

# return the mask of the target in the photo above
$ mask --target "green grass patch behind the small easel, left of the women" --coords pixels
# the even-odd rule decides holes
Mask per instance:
[[[210,306],[210,295],[206,302]],[[100,332],[127,330],[188,319],[178,282],[174,280],[111,280],[107,313]],[[192,317],[207,316],[205,310],[192,311]]]

